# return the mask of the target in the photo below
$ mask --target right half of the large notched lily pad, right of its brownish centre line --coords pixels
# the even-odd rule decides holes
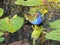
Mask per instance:
[[[14,33],[23,26],[24,18],[15,16],[10,20],[9,32]]]

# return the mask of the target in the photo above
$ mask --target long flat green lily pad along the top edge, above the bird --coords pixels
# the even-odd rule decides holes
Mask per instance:
[[[40,0],[27,0],[27,1],[24,1],[24,0],[17,0],[15,2],[16,5],[23,5],[23,6],[39,6],[40,5]]]

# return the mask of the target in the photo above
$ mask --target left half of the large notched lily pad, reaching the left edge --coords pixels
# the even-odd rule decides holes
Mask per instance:
[[[9,30],[9,26],[7,24],[7,20],[9,18],[3,18],[3,19],[0,19],[0,30],[2,31],[8,31]]]

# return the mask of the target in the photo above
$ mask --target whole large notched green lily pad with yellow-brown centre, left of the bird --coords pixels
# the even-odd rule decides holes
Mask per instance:
[[[4,19],[0,19],[0,30],[14,33],[23,26],[23,23],[24,23],[24,18],[21,18],[17,15],[15,15],[11,19],[6,17]]]

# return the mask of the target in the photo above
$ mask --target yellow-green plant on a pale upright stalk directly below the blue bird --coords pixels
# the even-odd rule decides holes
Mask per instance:
[[[32,35],[31,35],[31,37],[33,38],[33,45],[36,45],[35,41],[41,36],[41,33],[42,33],[43,29],[44,29],[43,26],[33,27],[33,32],[32,32]]]

